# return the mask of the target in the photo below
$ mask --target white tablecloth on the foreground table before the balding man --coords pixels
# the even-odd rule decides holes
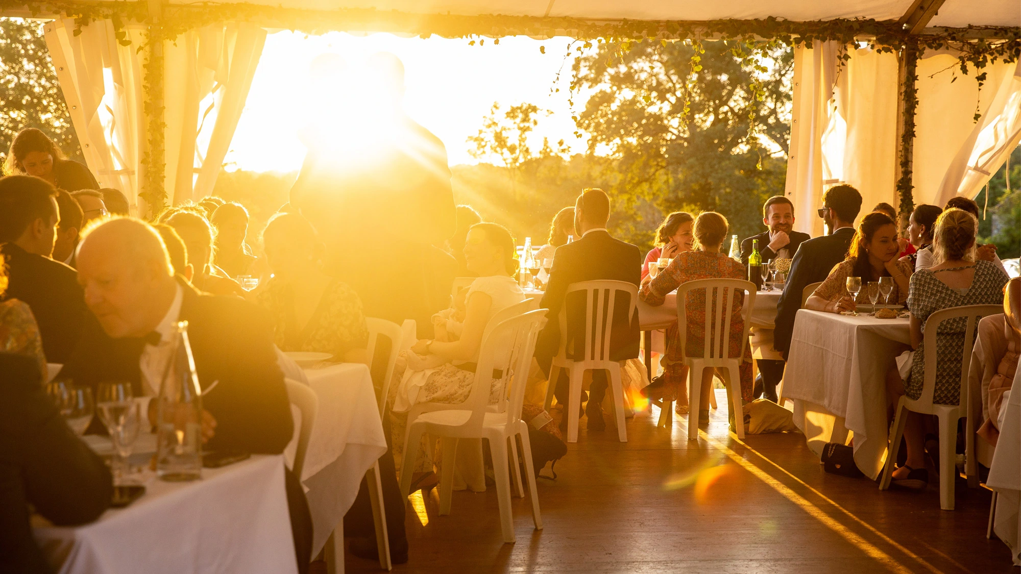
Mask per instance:
[[[202,469],[194,482],[152,477],[128,508],[35,533],[60,574],[297,571],[280,455]]]

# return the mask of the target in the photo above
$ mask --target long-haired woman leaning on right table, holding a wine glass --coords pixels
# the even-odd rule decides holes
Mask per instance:
[[[833,268],[826,281],[805,301],[805,308],[828,313],[855,310],[857,301],[847,292],[848,277],[862,278],[860,295],[865,293],[869,282],[892,277],[893,291],[889,300],[904,304],[912,269],[907,261],[896,258],[900,253],[893,220],[879,211],[865,216],[850,240],[847,258]]]

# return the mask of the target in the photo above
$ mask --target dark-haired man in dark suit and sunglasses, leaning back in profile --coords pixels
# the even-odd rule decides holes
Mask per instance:
[[[849,185],[831,187],[823,194],[823,207],[819,209],[819,217],[825,222],[829,235],[809,239],[797,248],[787,274],[787,283],[783,286],[783,294],[777,304],[773,348],[784,360],[790,350],[794,316],[801,308],[801,291],[809,284],[826,279],[833,266],[847,255],[847,247],[855,236],[855,218],[861,209],[862,194]]]

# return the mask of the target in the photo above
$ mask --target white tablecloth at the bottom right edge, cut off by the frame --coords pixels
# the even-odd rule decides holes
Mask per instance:
[[[1021,369],[1014,374],[985,484],[999,493],[993,530],[1011,548],[1014,565],[1021,566]]]

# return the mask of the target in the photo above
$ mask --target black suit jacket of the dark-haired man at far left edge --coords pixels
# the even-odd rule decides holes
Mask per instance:
[[[0,253],[7,259],[9,279],[4,299],[19,299],[32,308],[46,360],[65,363],[78,343],[89,313],[78,284],[78,273],[13,243],[4,243]]]

